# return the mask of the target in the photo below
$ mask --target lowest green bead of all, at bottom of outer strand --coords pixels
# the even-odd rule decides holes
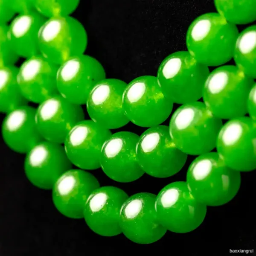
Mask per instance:
[[[158,224],[156,196],[138,193],[128,198],[120,212],[120,227],[124,235],[138,244],[151,244],[161,239],[166,229]]]

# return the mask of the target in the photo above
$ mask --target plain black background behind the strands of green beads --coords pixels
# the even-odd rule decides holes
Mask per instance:
[[[186,50],[189,24],[206,12],[215,12],[213,0],[81,0],[73,17],[87,30],[86,53],[103,64],[108,78],[129,82],[138,76],[156,76],[163,58]],[[3,117],[0,115],[1,122]],[[141,134],[145,129],[128,125],[122,130]],[[192,159],[180,173],[166,179],[144,175],[122,184],[110,180],[101,170],[93,174],[102,186],[119,186],[128,195],[157,194],[168,183],[185,180]],[[123,235],[98,236],[83,219],[62,216],[52,204],[51,192],[32,186],[26,179],[23,160],[24,156],[7,148],[0,137],[0,256],[218,256],[232,255],[230,249],[256,251],[256,172],[242,174],[241,189],[230,203],[208,207],[205,221],[197,230],[187,234],[167,232],[154,244],[139,245]]]

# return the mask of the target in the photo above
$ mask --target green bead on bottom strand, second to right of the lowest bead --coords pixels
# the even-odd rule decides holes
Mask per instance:
[[[219,206],[226,204],[237,194],[240,172],[228,168],[216,152],[197,157],[187,172],[188,188],[201,204]]]

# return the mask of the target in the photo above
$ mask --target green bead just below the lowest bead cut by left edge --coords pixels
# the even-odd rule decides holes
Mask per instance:
[[[35,125],[36,110],[32,107],[20,107],[9,113],[3,121],[2,134],[4,142],[12,150],[26,153],[43,138]]]

